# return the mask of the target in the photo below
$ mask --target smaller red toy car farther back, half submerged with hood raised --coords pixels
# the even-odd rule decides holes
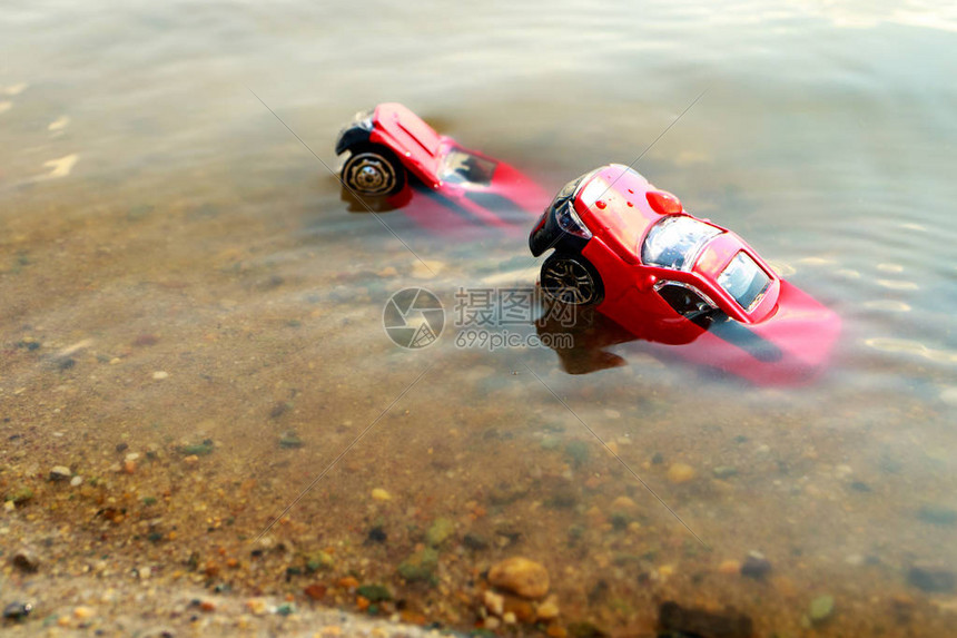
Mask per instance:
[[[523,226],[529,212],[547,202],[515,168],[438,135],[398,104],[356,114],[335,150],[348,154],[342,180],[361,197],[386,197],[403,207],[414,196],[410,186],[425,186],[431,200],[416,200],[408,213],[427,227],[461,224],[462,216],[484,226]]]

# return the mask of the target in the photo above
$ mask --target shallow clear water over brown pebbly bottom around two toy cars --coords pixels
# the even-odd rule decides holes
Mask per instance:
[[[858,4],[8,3],[0,488],[34,495],[0,531],[55,539],[65,573],[148,563],[299,598],[322,581],[347,608],[353,575],[456,628],[515,554],[549,569],[560,628],[651,631],[678,600],[797,635],[822,593],[822,635],[953,625],[953,586],[909,573],[957,571],[957,17]],[[637,168],[835,308],[839,349],[777,389],[641,342],[590,374],[549,349],[455,347],[451,326],[398,349],[391,294],[425,285],[451,311],[460,287],[531,286],[525,236],[349,212],[250,89],[328,166],[339,126],[394,100],[549,193],[632,161],[707,90]],[[669,480],[675,463],[694,478]],[[83,484],[48,482],[53,465]],[[456,531],[435,581],[406,583],[437,518]],[[297,575],[318,550],[335,565]],[[719,569],[753,550],[763,581]]]

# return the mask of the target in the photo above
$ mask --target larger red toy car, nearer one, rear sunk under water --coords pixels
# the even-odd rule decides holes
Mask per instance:
[[[554,248],[541,272],[553,302],[594,306],[635,338],[694,342],[690,359],[752,381],[812,376],[840,327],[738,235],[627,166],[565,185],[529,244],[535,256]]]

